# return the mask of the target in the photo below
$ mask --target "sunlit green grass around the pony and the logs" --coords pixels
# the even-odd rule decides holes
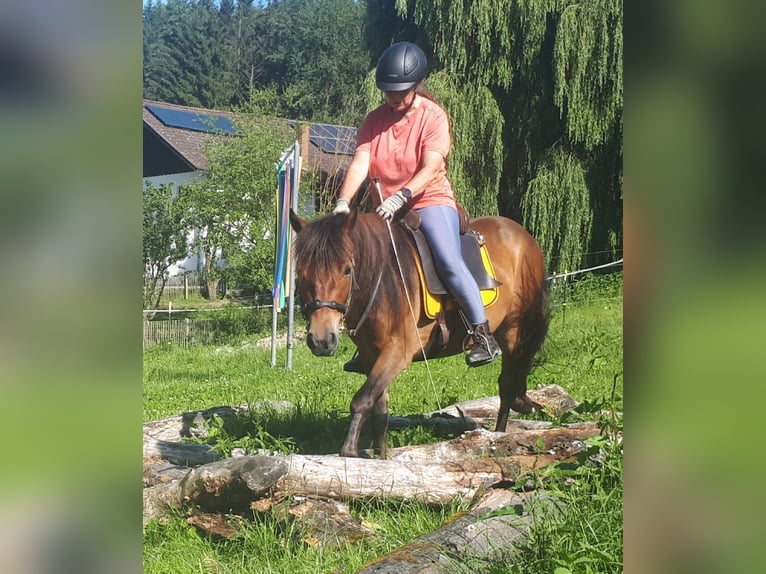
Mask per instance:
[[[566,420],[612,421],[604,413],[621,413],[622,404],[622,274],[586,277],[552,291],[553,315],[543,364],[529,380],[530,388],[556,383],[582,403]],[[344,338],[332,358],[313,357],[302,341],[286,370],[285,350],[277,367],[270,350],[255,341],[268,335],[233,337],[226,344],[190,349],[152,347],[144,353],[144,420],[221,405],[290,401],[296,409],[253,420],[247,434],[222,437],[223,452],[233,446],[280,452],[338,452],[348,424],[348,406],[363,382],[345,373],[342,364],[353,353]],[[391,415],[413,415],[451,403],[497,394],[499,362],[468,369],[461,357],[416,364],[391,386]],[[532,415],[540,417],[542,415]],[[617,415],[622,427],[622,416]],[[391,431],[393,447],[439,440],[423,429]],[[360,444],[361,447],[368,446]],[[549,468],[525,478],[568,502],[556,519],[541,516],[513,565],[485,564],[481,571],[621,572],[622,446],[596,441],[597,464],[577,469]],[[150,524],[145,531],[147,573],[315,573],[354,572],[365,562],[430,532],[460,508],[433,509],[417,503],[370,501],[351,505],[352,514],[374,525],[375,536],[341,548],[323,548],[296,539],[274,514],[248,522],[225,541],[198,534],[182,517]]]

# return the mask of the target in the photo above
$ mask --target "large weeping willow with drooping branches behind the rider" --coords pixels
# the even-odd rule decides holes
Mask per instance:
[[[391,22],[380,15],[387,10],[399,23],[379,34],[418,42],[449,78],[450,175],[473,184],[502,166],[463,198],[481,207],[472,211],[494,212],[493,204],[521,220],[552,270],[581,264],[588,251],[620,249],[622,3],[368,2],[376,22]],[[488,147],[490,124],[502,126],[502,137]]]

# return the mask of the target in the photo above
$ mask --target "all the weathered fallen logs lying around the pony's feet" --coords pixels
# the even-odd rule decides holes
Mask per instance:
[[[552,405],[551,412],[576,406],[563,389],[552,387],[538,390],[536,396],[534,391],[529,394],[544,406],[546,401]],[[285,521],[310,525],[304,541],[331,544],[337,543],[339,533],[347,541],[373,535],[351,517],[344,505],[348,501],[386,497],[434,505],[472,502],[471,510],[448,526],[362,570],[467,571],[456,564],[469,564],[470,556],[482,559],[507,550],[528,531],[531,506],[545,503],[544,495],[505,487],[530,469],[576,455],[586,448],[588,437],[600,433],[593,422],[554,426],[517,419],[509,421],[506,432],[490,432],[483,425],[497,412],[496,400],[470,401],[412,418],[392,417],[392,427],[425,424],[462,434],[436,444],[391,449],[388,460],[307,454],[221,460],[207,445],[180,442],[204,432],[202,423],[215,415],[224,425],[235,425],[236,417],[248,409],[244,405],[147,423],[144,523],[182,511],[201,531],[225,537],[236,532],[236,522],[229,517],[252,517],[279,504]],[[511,511],[487,518],[503,508]]]

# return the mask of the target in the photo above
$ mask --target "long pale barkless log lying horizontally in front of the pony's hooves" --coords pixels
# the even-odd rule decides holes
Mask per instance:
[[[194,505],[203,512],[239,513],[266,494],[339,500],[391,498],[448,504],[479,489],[514,480],[518,463],[503,458],[423,465],[339,456],[243,456],[194,468],[184,478],[144,489],[144,521]]]

